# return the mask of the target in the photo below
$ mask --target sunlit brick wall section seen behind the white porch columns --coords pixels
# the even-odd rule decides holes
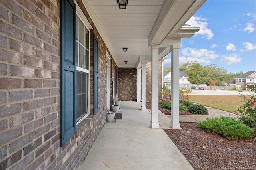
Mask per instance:
[[[158,63],[158,96],[162,94],[162,61]],[[151,62],[146,63],[146,102],[151,102]]]

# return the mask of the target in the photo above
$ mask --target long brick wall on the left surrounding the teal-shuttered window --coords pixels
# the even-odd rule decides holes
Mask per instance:
[[[93,33],[99,39],[100,107],[60,147],[60,1],[0,1],[0,169],[79,169],[105,123],[108,49],[78,4],[94,28],[90,40]],[[90,111],[92,89],[91,83]]]

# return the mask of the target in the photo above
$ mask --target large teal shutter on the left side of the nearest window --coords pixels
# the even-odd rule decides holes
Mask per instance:
[[[76,134],[76,6],[60,1],[60,146]]]

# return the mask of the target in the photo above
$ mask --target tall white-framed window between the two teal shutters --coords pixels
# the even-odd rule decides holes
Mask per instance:
[[[76,121],[89,115],[89,36],[90,32],[76,15]]]

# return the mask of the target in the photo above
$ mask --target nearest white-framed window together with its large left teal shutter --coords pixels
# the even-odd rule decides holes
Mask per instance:
[[[89,114],[90,29],[74,1],[60,1],[60,146]]]

